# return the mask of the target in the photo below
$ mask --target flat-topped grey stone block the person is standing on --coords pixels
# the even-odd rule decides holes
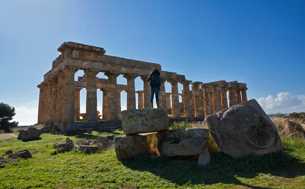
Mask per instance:
[[[167,112],[161,108],[132,109],[121,112],[125,134],[150,133],[169,129]]]

